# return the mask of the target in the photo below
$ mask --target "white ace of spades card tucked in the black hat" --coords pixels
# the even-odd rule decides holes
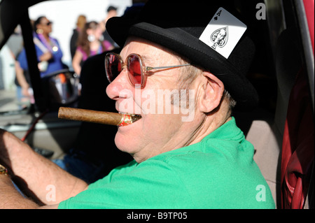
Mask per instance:
[[[246,29],[246,24],[221,7],[204,29],[200,41],[228,59]]]

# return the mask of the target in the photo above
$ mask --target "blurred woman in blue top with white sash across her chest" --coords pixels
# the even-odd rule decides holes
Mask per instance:
[[[38,57],[38,69],[41,71],[41,78],[49,73],[65,69],[62,63],[62,50],[56,38],[52,38],[52,22],[47,17],[38,17],[34,22],[34,43],[36,55]],[[23,70],[28,70],[25,49],[18,57],[20,66]]]

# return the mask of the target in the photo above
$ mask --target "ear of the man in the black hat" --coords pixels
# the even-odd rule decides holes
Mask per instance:
[[[224,92],[223,82],[212,73],[204,71],[204,80],[200,91],[198,106],[203,113],[210,113],[216,109],[220,103]]]

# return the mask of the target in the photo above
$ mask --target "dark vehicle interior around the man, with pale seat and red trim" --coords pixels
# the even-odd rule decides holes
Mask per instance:
[[[28,8],[39,2],[0,1],[0,49],[20,24],[35,100],[25,109],[6,110],[9,99],[0,85],[0,128],[13,132],[48,159],[62,158],[73,146],[106,145],[112,148],[105,151],[109,153],[109,171],[127,163],[131,157],[113,143],[115,127],[57,118],[60,106],[104,111],[115,108],[104,90],[108,84],[105,53],[88,59],[80,78],[71,69],[40,78],[28,13]],[[250,24],[256,57],[248,79],[258,91],[260,104],[255,110],[236,110],[237,125],[254,145],[254,160],[267,180],[276,208],[314,209],[314,23],[311,40],[302,0],[231,3],[244,16],[257,17],[258,3],[263,3],[266,13],[265,19]],[[312,13],[314,18],[314,9]],[[1,75],[5,73],[0,70],[0,79]],[[80,95],[78,82],[82,85]]]

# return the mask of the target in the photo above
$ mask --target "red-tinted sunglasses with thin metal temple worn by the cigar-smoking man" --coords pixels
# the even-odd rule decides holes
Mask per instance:
[[[144,66],[141,56],[137,54],[129,55],[126,58],[125,63],[123,62],[123,59],[120,57],[120,55],[117,55],[116,53],[109,52],[105,56],[105,71],[109,82],[112,82],[126,67],[130,83],[134,85],[134,87],[136,85],[141,85],[141,88],[146,85],[146,76],[148,75],[147,71],[152,71],[155,69],[172,69],[188,65],[190,64],[152,67]]]

